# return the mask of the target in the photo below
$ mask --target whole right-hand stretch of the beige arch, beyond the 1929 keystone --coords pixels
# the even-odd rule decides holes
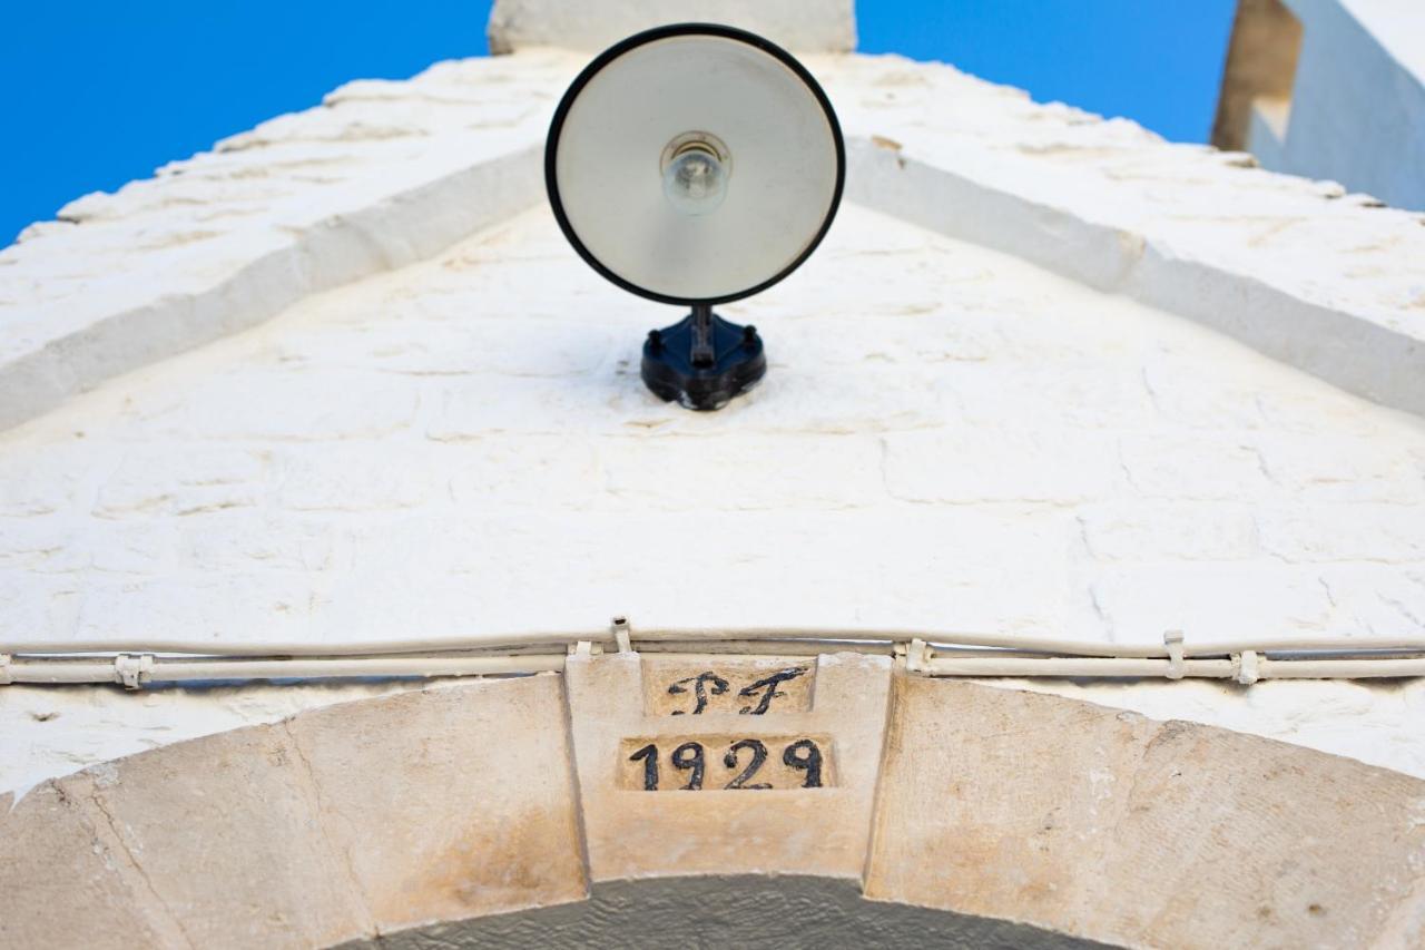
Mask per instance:
[[[871,897],[1131,946],[1367,946],[1418,914],[1425,786],[1251,736],[898,676],[879,789]]]

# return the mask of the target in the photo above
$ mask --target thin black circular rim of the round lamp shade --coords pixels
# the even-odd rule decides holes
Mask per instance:
[[[660,294],[657,291],[638,287],[637,284],[611,271],[597,257],[594,257],[593,251],[590,251],[583,241],[579,240],[579,234],[570,224],[569,215],[564,214],[564,203],[560,198],[559,181],[554,174],[554,164],[559,155],[559,141],[560,134],[564,130],[564,120],[567,118],[569,110],[573,107],[574,100],[579,98],[584,86],[587,86],[589,81],[593,80],[593,77],[597,76],[606,66],[630,50],[675,36],[717,36],[728,40],[737,40],[757,47],[758,50],[762,50],[764,53],[779,60],[807,86],[807,88],[811,90],[812,96],[817,98],[822,113],[826,116],[826,124],[831,127],[831,138],[836,148],[836,184],[832,188],[831,204],[826,208],[821,228],[818,228],[812,240],[808,241],[802,252],[768,280],[747,290],[718,297],[675,297],[670,294]],[[574,77],[574,81],[569,86],[569,90],[564,91],[563,98],[560,98],[559,106],[554,108],[554,118],[550,121],[549,136],[544,140],[544,190],[549,194],[550,208],[554,211],[554,220],[559,223],[559,230],[564,233],[564,238],[570,242],[570,245],[573,245],[574,251],[584,258],[584,262],[597,271],[604,280],[621,287],[630,294],[637,294],[638,297],[658,301],[660,304],[675,304],[680,307],[691,307],[697,304],[727,304],[735,300],[742,300],[744,297],[751,297],[752,294],[760,294],[768,287],[781,282],[789,277],[792,271],[805,264],[807,258],[809,258],[817,247],[821,245],[822,238],[826,237],[832,221],[836,218],[836,211],[841,208],[841,197],[845,190],[845,184],[846,144],[841,134],[841,123],[836,120],[836,110],[832,108],[831,98],[826,96],[826,91],[821,87],[811,71],[782,47],[777,46],[767,37],[721,23],[673,23],[668,26],[653,27],[651,30],[644,30],[643,33],[636,33],[624,40],[620,40],[618,43],[614,43],[611,47],[596,56],[593,61],[590,61],[589,66],[586,66],[579,76]]]

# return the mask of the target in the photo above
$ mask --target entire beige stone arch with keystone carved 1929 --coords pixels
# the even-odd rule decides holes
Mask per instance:
[[[767,715],[665,689],[708,670],[722,703],[779,663],[807,669]],[[703,790],[634,787],[630,743],[740,736],[814,739],[824,785],[711,787],[710,755]],[[165,746],[0,819],[6,946],[517,943],[680,894],[965,946],[1416,944],[1425,783],[888,658],[617,653]]]

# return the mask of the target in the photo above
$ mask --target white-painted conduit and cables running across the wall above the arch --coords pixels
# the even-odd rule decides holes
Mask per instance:
[[[115,652],[113,643],[0,645],[0,685],[123,683],[140,689],[155,682],[249,679],[510,676],[564,669],[569,652],[630,649],[646,653],[819,653],[905,655],[906,669],[928,676],[1056,676],[1234,679],[1371,679],[1425,676],[1425,642],[1411,639],[1335,639],[1228,642],[1188,646],[1170,633],[1161,646],[1121,646],[993,635],[933,636],[861,630],[640,630],[627,623],[586,638],[544,635],[536,642],[459,650],[449,640],[422,649],[418,640],[333,648],[279,646],[254,655],[235,645],[194,655],[192,648],[150,643]],[[522,638],[524,639],[524,638]],[[611,642],[610,642],[611,640]],[[165,649],[167,646],[167,649]],[[95,656],[94,653],[98,653]],[[167,653],[167,655],[165,655]],[[177,656],[174,653],[178,653]],[[182,653],[188,653],[184,656]]]

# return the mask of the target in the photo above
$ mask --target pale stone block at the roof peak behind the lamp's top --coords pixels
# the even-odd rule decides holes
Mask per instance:
[[[797,51],[849,53],[856,47],[852,0],[496,0],[490,51],[530,46],[597,51],[626,36],[670,23],[725,23]]]

